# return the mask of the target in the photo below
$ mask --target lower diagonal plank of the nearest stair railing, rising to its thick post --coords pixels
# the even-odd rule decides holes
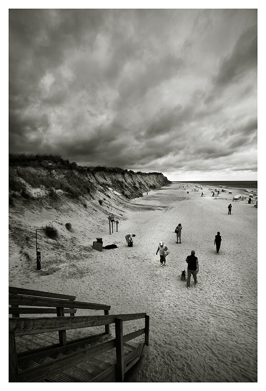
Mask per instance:
[[[19,372],[20,382],[37,382],[47,379],[63,370],[71,368],[82,361],[88,360],[91,357],[101,354],[103,351],[115,348],[115,340],[103,342],[92,348],[85,348],[82,351],[69,354],[64,358],[53,360],[47,363],[40,364],[33,368],[24,369]]]

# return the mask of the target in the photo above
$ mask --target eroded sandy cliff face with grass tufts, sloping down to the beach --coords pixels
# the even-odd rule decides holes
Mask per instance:
[[[109,235],[110,213],[120,223],[119,230],[123,229],[126,211],[135,208],[130,199],[169,184],[160,173],[133,173],[104,167],[11,165],[10,276],[13,271],[19,271],[27,279],[34,272],[36,229],[49,225],[58,232],[58,239],[53,240],[38,231],[45,267],[55,270],[65,262],[80,258],[81,254],[92,252],[95,238]]]

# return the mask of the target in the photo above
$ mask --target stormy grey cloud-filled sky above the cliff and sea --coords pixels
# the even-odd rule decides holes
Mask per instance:
[[[10,9],[9,151],[257,179],[255,9]]]

